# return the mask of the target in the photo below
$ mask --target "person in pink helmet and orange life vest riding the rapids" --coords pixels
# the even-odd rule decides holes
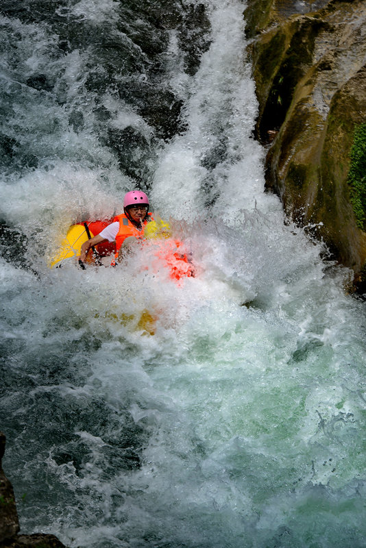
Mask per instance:
[[[143,239],[144,229],[149,221],[154,221],[154,219],[149,213],[149,198],[145,192],[141,190],[127,192],[123,198],[123,213],[115,216],[108,227],[82,245],[78,257],[80,266],[86,261],[89,249],[106,240],[108,242],[115,240],[115,258],[119,258],[122,247],[129,247],[136,241]]]

